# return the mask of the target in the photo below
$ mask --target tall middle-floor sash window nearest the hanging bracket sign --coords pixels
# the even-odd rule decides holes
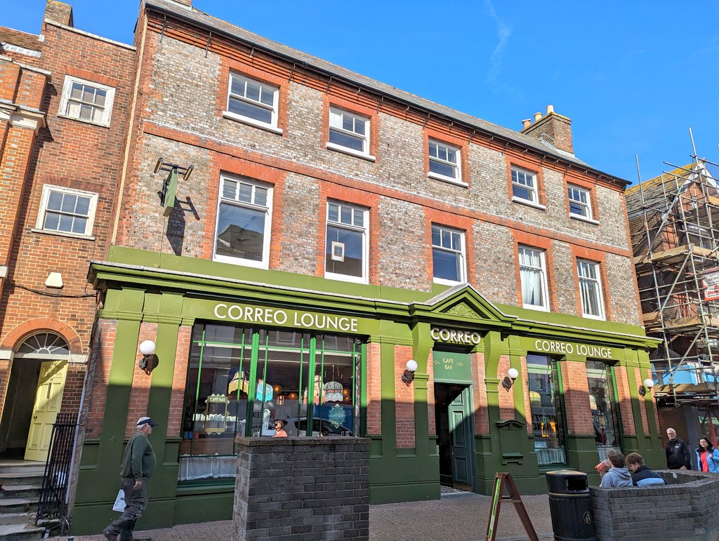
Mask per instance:
[[[272,188],[221,177],[214,259],[267,268]]]

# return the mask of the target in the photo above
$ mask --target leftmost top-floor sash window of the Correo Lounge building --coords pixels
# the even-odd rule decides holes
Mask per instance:
[[[227,111],[249,124],[277,128],[279,94],[275,86],[230,73]]]

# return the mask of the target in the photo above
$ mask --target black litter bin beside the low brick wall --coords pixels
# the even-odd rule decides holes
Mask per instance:
[[[548,471],[546,486],[549,489],[549,511],[554,539],[596,540],[587,474],[572,470]]]

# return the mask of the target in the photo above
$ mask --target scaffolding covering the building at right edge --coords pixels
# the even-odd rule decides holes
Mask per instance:
[[[696,152],[695,152],[696,154]],[[719,407],[719,185],[717,166],[689,165],[626,192],[633,259],[659,405]]]

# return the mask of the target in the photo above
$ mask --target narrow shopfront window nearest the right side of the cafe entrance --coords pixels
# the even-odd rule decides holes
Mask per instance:
[[[527,355],[529,406],[539,466],[567,463],[558,371],[554,359],[531,353]]]

